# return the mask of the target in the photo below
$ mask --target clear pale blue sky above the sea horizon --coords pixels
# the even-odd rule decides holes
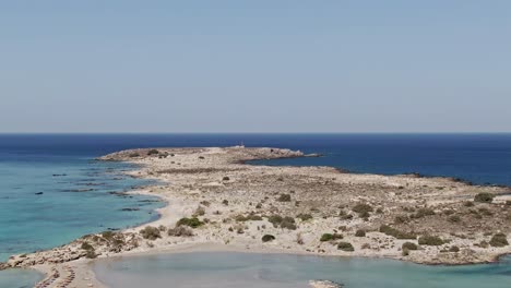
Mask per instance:
[[[1,1],[0,132],[511,132],[511,1]]]

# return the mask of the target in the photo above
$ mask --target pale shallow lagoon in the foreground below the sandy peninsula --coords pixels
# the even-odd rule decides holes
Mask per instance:
[[[507,288],[511,257],[490,265],[426,266],[392,260],[285,254],[183,253],[98,261],[112,288],[306,288],[310,279],[346,288]]]

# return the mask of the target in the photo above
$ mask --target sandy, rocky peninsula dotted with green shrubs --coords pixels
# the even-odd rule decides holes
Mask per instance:
[[[159,180],[133,193],[163,199],[167,205],[158,209],[161,218],[15,255],[0,267],[45,272],[48,277],[37,287],[104,287],[90,268],[96,257],[225,250],[468,264],[511,253],[509,188],[417,175],[245,164],[306,156],[242,146],[104,156],[102,160],[139,164],[140,169],[129,172],[132,177]]]

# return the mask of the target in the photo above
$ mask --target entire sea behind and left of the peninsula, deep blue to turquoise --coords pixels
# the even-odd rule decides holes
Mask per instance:
[[[155,199],[115,193],[148,184],[121,173],[134,167],[96,161],[97,156],[134,147],[241,143],[324,155],[259,161],[265,165],[418,172],[511,185],[511,134],[0,134],[0,261],[157,217],[153,211],[163,203]],[[126,211],[133,207],[139,211]],[[20,279],[21,272],[15,274]],[[33,281],[26,276],[27,281],[8,286],[12,275],[0,273],[0,287]]]

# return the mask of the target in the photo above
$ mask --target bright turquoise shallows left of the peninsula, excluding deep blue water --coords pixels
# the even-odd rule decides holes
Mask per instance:
[[[131,168],[57,156],[0,161],[0,261],[157,217],[157,199],[112,194],[148,183],[120,175]]]

